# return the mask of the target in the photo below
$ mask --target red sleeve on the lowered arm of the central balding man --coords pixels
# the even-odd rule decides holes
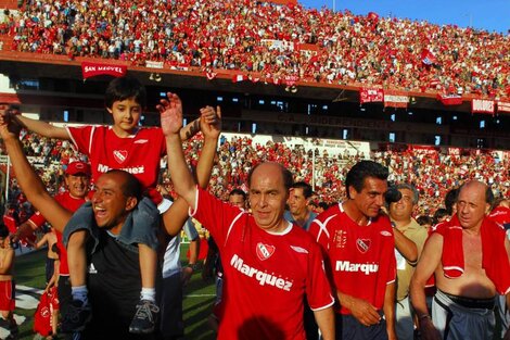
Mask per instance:
[[[313,311],[319,311],[334,304],[331,286],[324,270],[324,261],[318,244],[311,244],[308,256],[306,297]]]

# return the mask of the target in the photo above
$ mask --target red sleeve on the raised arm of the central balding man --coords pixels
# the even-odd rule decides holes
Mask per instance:
[[[195,210],[190,216],[196,218],[213,235],[216,244],[224,244],[234,222],[244,215],[239,207],[222,202],[206,190],[196,187]]]

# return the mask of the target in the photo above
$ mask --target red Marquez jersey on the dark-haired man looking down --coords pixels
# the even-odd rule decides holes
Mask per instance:
[[[317,216],[309,232],[328,253],[336,290],[382,310],[386,285],[395,281],[395,239],[387,216],[359,226],[336,204]],[[350,314],[344,306],[337,311]]]

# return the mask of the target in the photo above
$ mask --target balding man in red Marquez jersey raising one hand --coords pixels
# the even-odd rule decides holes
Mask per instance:
[[[253,215],[224,203],[196,189],[188,171],[178,135],[182,112],[169,102],[161,113],[176,191],[219,248],[226,280],[218,338],[305,339],[306,293],[323,339],[334,339],[333,298],[320,248],[306,231],[283,219],[292,174],[276,163],[262,163],[250,173]]]

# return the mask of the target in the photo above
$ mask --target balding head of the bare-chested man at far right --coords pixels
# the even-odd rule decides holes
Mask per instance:
[[[463,184],[457,200],[457,216],[462,228],[480,228],[485,214],[490,211],[493,199],[493,191],[487,185],[477,180]]]

